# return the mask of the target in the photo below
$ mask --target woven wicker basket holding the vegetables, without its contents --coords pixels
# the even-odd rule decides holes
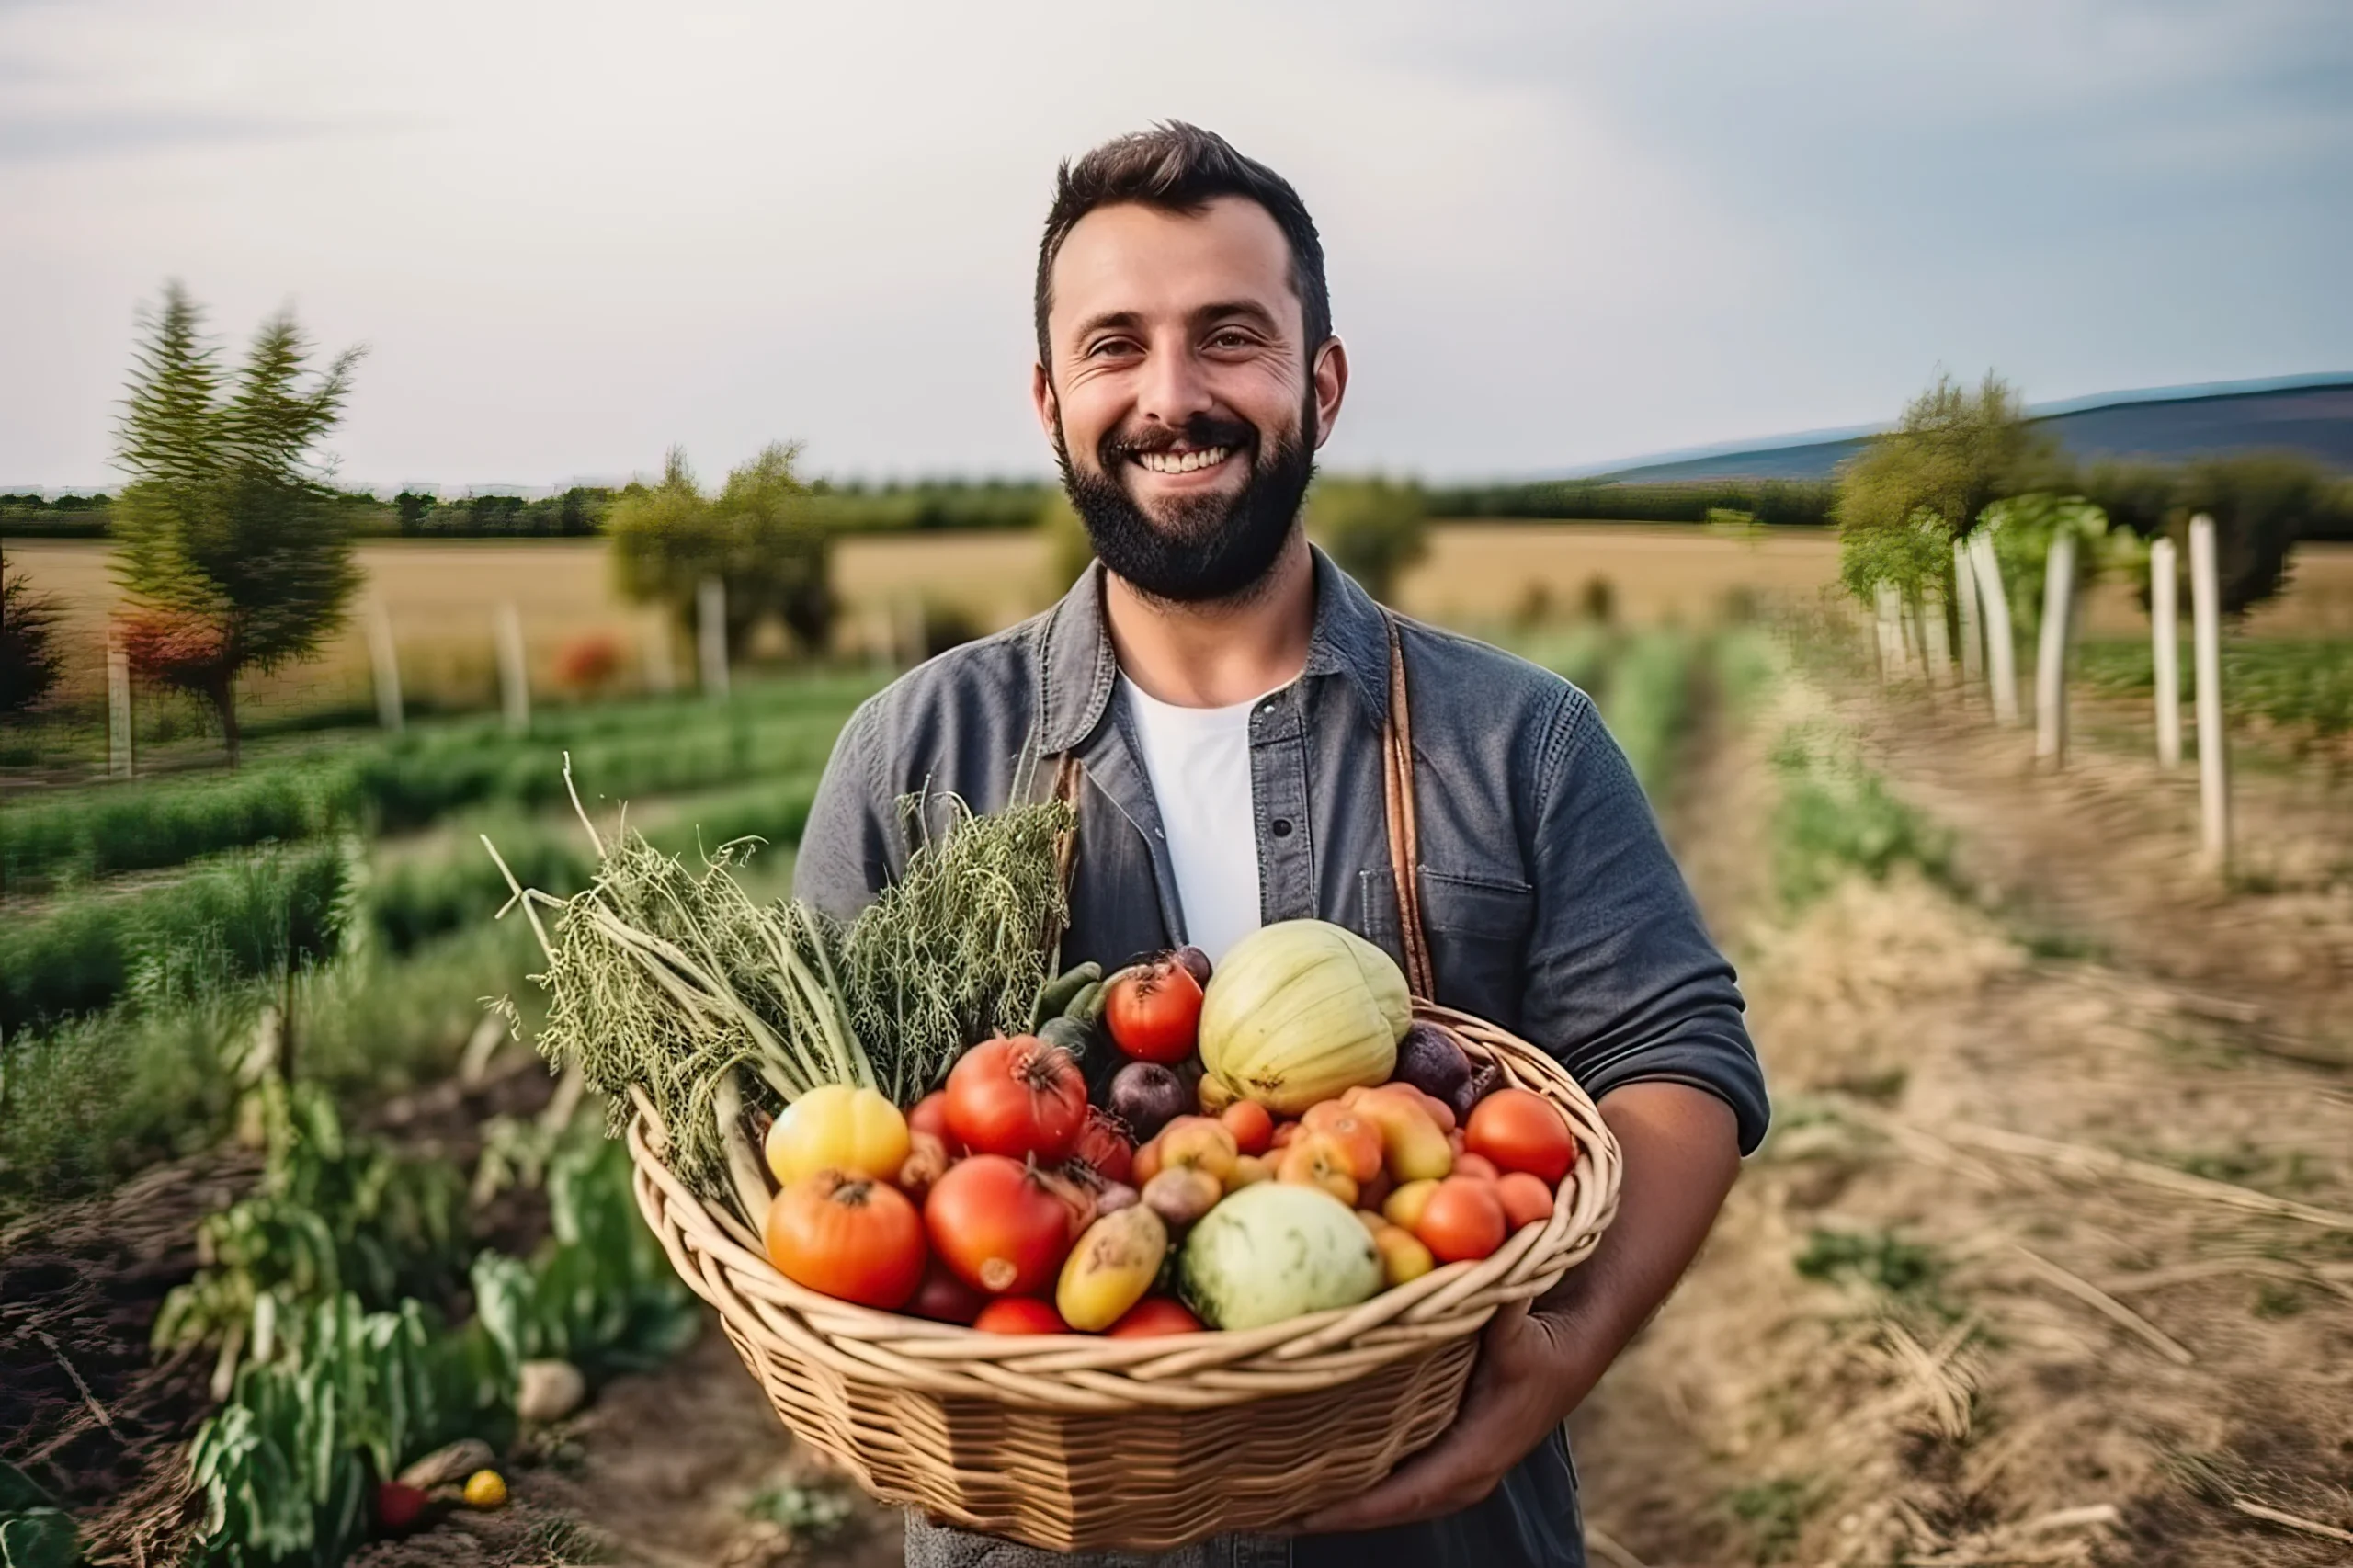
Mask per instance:
[[[1414,1015],[1558,1104],[1579,1161],[1548,1222],[1362,1307],[1167,1340],[984,1335],[854,1307],[784,1278],[671,1175],[642,1118],[638,1208],[793,1436],[882,1502],[1056,1552],[1264,1530],[1435,1439],[1494,1309],[1551,1290],[1617,1210],[1617,1140],[1558,1062],[1461,1012]]]

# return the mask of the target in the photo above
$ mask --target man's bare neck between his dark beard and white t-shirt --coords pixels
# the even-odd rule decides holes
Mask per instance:
[[[1209,605],[1151,598],[1106,572],[1104,622],[1120,671],[1148,697],[1184,709],[1226,709],[1289,685],[1306,669],[1315,560],[1306,534],[1294,530],[1266,577]]]

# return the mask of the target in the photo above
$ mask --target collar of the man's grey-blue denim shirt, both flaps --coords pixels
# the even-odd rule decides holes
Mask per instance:
[[[1308,631],[1308,676],[1346,676],[1379,725],[1388,713],[1388,629],[1381,605],[1313,544],[1315,626]],[[1045,619],[1038,638],[1038,749],[1071,751],[1104,723],[1120,683],[1120,659],[1104,626],[1104,565],[1089,563]]]

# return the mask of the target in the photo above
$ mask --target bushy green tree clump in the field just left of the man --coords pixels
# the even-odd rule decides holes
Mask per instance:
[[[809,652],[833,636],[833,539],[819,497],[793,473],[798,447],[776,443],[734,469],[706,497],[678,447],[661,483],[631,485],[612,506],[614,579],[621,593],[664,605],[694,629],[704,577],[727,586],[727,652],[736,655],[767,617]]]

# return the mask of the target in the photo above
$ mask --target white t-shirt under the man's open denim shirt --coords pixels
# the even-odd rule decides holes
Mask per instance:
[[[1179,709],[1127,676],[1127,711],[1144,746],[1144,772],[1160,805],[1160,826],[1176,871],[1186,939],[1221,963],[1226,949],[1259,930],[1259,817],[1249,793],[1249,713],[1264,697],[1231,709]]]

